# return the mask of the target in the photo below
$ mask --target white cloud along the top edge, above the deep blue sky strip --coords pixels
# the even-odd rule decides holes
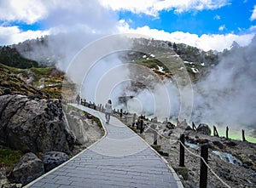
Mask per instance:
[[[113,10],[128,10],[135,14],[149,14],[157,16],[161,10],[174,9],[177,13],[190,10],[218,9],[227,4],[229,0],[100,0],[103,6]]]

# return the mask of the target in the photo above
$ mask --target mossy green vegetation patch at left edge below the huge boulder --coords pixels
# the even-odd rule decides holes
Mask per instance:
[[[12,166],[19,162],[20,158],[23,156],[21,151],[13,151],[10,149],[0,150],[0,164],[1,166]]]

